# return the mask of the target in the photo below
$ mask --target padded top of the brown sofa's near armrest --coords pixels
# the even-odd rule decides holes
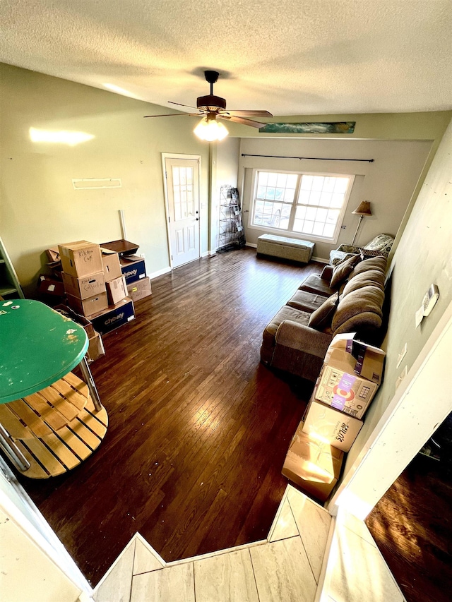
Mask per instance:
[[[320,357],[322,360],[331,339],[331,335],[326,332],[314,330],[314,328],[292,322],[292,320],[284,320],[280,323],[275,335],[277,345],[297,349],[305,354]]]

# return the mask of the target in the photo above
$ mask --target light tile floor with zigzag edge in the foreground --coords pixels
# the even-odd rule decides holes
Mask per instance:
[[[166,563],[136,534],[97,585],[94,598],[95,602],[404,601],[364,522],[345,512],[333,521],[323,507],[290,485],[266,541]]]

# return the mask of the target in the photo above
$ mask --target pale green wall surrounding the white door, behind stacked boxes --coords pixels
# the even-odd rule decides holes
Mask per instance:
[[[148,274],[169,267],[162,152],[201,155],[201,253],[207,251],[208,145],[194,136],[194,119],[143,119],[162,107],[8,65],[0,64],[0,78],[0,232],[27,292],[49,246],[121,238],[121,209]],[[31,127],[94,138],[75,146],[33,143]],[[76,191],[73,178],[120,178],[122,187]]]

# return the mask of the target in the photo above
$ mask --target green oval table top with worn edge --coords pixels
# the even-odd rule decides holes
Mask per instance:
[[[85,356],[85,330],[40,301],[0,301],[0,404],[31,395]]]

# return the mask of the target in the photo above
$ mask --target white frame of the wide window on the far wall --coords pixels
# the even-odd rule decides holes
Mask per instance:
[[[295,230],[290,230],[290,229],[285,230],[285,229],[276,228],[273,226],[261,226],[258,224],[254,224],[253,219],[254,219],[254,210],[255,210],[255,206],[256,206],[256,200],[263,200],[263,199],[257,198],[258,174],[260,172],[264,172],[266,174],[293,174],[293,175],[297,176],[297,185],[295,187],[294,200],[292,201],[292,203],[290,203],[291,210],[290,210],[289,225],[292,225],[292,227],[293,227],[293,224],[295,221],[295,212],[296,212],[297,206],[300,206],[298,203],[298,199],[299,199],[299,192],[300,192],[300,187],[301,187],[301,183],[302,183],[302,176],[324,176],[324,177],[332,177],[332,178],[348,178],[349,183],[347,186],[347,191],[345,192],[343,206],[340,209],[338,221],[336,222],[333,236],[329,237],[329,236],[319,236],[318,234],[304,234],[304,232],[297,232]],[[318,241],[318,242],[324,242],[324,243],[328,243],[328,244],[335,244],[338,242],[338,239],[339,239],[340,229],[342,228],[342,225],[343,225],[345,211],[347,210],[347,205],[350,200],[350,194],[352,193],[352,188],[353,188],[354,183],[355,183],[355,174],[338,174],[338,173],[331,173],[331,172],[326,172],[326,171],[293,171],[292,169],[266,169],[266,168],[255,167],[253,169],[253,174],[252,174],[252,179],[251,179],[251,198],[250,198],[250,203],[249,203],[249,218],[248,218],[248,226],[247,227],[251,230],[261,230],[261,231],[268,232],[269,234],[280,234],[283,236],[284,235],[290,236],[291,238],[294,238],[294,239],[300,239],[300,240],[308,239],[309,241]],[[289,203],[284,203],[283,201],[280,202],[278,200],[271,200],[271,202],[280,203],[281,205],[289,204]],[[309,206],[309,205],[301,205],[301,206]]]

